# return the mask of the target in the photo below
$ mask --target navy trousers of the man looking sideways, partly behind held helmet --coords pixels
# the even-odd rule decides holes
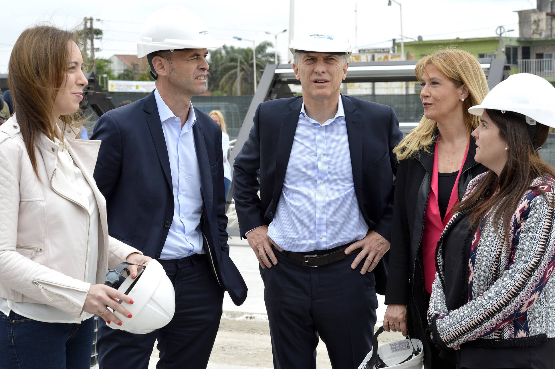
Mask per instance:
[[[100,322],[100,369],[147,369],[155,340],[160,351],[158,369],[205,369],[208,365],[220,325],[224,290],[211,274],[206,255],[158,261],[175,288],[173,319],[145,335],[113,330]]]

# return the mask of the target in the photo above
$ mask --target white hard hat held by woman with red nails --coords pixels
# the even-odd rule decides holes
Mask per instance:
[[[111,322],[110,328],[130,333],[150,333],[168,324],[175,312],[175,291],[173,284],[166,275],[164,268],[157,260],[150,260],[135,279],[127,277],[119,286],[123,292],[133,300],[133,305],[121,301],[125,309],[132,314],[131,318],[113,311],[122,321],[118,326]]]

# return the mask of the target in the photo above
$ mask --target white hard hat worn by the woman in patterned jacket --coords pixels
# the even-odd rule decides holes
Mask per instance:
[[[482,116],[484,109],[515,112],[555,128],[555,87],[535,74],[517,73],[493,87],[480,105],[468,113]],[[528,124],[536,124],[527,119]]]

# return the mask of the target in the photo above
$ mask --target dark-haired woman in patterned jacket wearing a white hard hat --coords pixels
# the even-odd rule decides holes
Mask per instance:
[[[555,366],[555,169],[538,150],[555,127],[555,88],[516,74],[481,105],[469,184],[436,249],[428,322],[458,368]]]

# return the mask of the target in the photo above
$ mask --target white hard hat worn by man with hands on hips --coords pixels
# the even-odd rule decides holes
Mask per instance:
[[[291,40],[289,50],[295,52],[316,52],[339,54],[345,53],[347,58],[352,54],[351,43],[339,34],[308,33]]]

